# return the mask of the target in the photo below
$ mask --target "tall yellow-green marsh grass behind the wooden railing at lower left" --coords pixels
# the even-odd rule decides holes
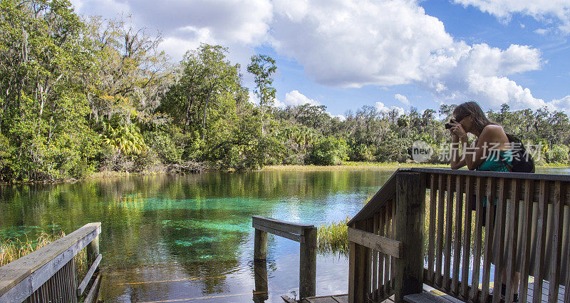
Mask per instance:
[[[66,233],[61,230],[55,234],[46,234],[42,232],[41,235],[36,240],[29,240],[26,236],[26,240],[20,239],[11,239],[8,238],[6,240],[1,240],[0,242],[0,266],[4,266],[9,262],[17,260],[25,255],[28,255],[31,252],[39,250],[41,247],[44,247],[50,244],[53,241],[56,241],[62,237],[65,237]],[[76,262],[76,273],[78,279],[80,277],[84,277],[87,272],[87,253],[86,250],[81,250],[75,256]]]

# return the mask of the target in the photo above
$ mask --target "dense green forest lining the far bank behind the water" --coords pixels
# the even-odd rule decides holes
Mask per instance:
[[[240,66],[224,46],[204,43],[172,63],[161,34],[128,16],[83,18],[65,0],[3,0],[0,11],[1,182],[403,163],[415,140],[434,148],[450,141],[443,124],[454,105],[405,113],[363,106],[343,120],[326,106],[279,108],[269,56]],[[569,165],[566,113],[504,104],[488,115],[524,143],[540,143],[537,163]]]

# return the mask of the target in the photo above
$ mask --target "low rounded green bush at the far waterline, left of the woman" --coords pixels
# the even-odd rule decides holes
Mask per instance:
[[[318,139],[309,151],[309,163],[314,165],[340,165],[346,160],[346,141],[332,136]]]

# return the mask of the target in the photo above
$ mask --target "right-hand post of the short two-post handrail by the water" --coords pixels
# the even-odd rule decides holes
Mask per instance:
[[[305,242],[301,243],[299,262],[299,298],[316,294],[316,227],[304,230]]]

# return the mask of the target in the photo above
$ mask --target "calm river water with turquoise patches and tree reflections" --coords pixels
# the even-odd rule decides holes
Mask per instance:
[[[102,222],[105,302],[252,302],[252,215],[314,225],[343,220],[392,173],[204,173],[5,185],[0,240]],[[348,291],[346,257],[318,255],[316,275],[317,295]],[[299,243],[269,235],[267,276],[265,302],[299,294]]]

